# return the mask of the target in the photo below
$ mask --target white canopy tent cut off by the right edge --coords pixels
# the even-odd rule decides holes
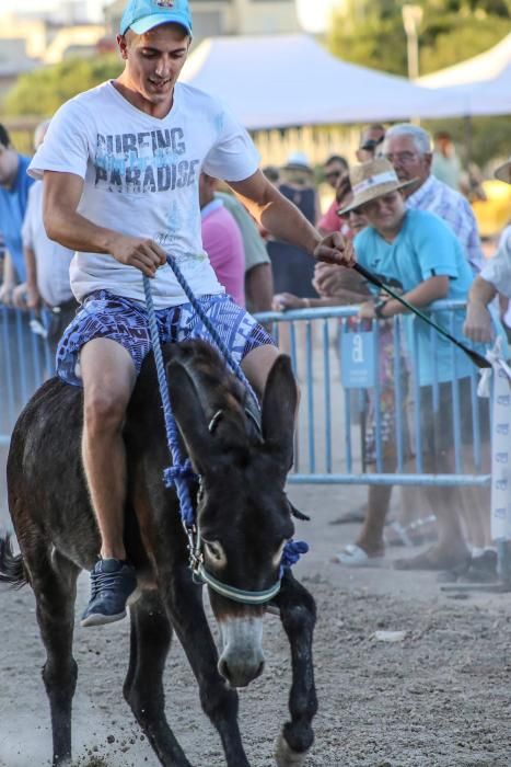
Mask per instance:
[[[444,116],[511,113],[511,34],[496,46],[454,67],[419,78],[418,83],[445,98]]]

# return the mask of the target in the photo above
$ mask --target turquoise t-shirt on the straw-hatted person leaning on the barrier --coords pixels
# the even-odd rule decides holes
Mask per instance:
[[[462,245],[451,229],[434,214],[427,210],[407,210],[399,233],[393,242],[372,227],[355,238],[357,260],[376,274],[390,287],[404,293],[431,277],[449,277],[446,299],[465,300],[473,282],[471,266]],[[456,337],[463,337],[465,310],[435,313],[435,321]],[[450,381],[464,378],[473,370],[473,363],[454,344],[437,333],[419,318],[406,318],[407,340],[413,348],[417,333],[418,380],[420,386],[433,380]],[[414,355],[415,356],[415,355]]]

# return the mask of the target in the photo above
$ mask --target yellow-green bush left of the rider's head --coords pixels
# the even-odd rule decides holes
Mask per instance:
[[[19,78],[3,104],[5,115],[51,116],[65,101],[116,78],[123,69],[115,54],[69,58]]]

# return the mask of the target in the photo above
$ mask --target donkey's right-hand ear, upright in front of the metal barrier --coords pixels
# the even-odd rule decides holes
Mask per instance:
[[[293,460],[294,414],[298,389],[291,369],[291,359],[277,357],[263,397],[263,437],[272,451],[281,457],[283,471],[289,471]]]

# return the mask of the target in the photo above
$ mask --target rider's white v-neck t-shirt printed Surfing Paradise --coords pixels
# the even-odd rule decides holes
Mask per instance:
[[[150,238],[172,254],[196,296],[222,293],[204,251],[198,180],[201,170],[243,181],[258,167],[248,134],[212,96],[177,83],[160,119],[105,82],[56,113],[28,172],[84,179],[78,213],[100,227]],[[78,300],[101,288],[144,301],[142,274],[109,254],[76,253],[71,287]],[[151,281],[156,309],[188,299],[169,265]]]

